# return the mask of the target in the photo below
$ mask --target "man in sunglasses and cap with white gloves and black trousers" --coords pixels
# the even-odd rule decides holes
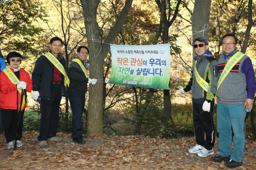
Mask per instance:
[[[214,96],[216,94],[218,67],[209,51],[208,40],[199,37],[193,41],[195,53],[192,76],[180,92],[192,91],[193,122],[196,145],[188,150],[200,157],[214,154],[215,127],[213,123]]]

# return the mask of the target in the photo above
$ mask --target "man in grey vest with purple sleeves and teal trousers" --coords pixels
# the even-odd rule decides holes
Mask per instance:
[[[223,53],[218,60],[216,92],[220,153],[211,160],[225,161],[225,166],[234,168],[243,164],[245,115],[252,110],[256,82],[251,59],[236,48],[238,38],[229,33],[222,37],[221,42]],[[232,153],[231,128],[234,133]]]

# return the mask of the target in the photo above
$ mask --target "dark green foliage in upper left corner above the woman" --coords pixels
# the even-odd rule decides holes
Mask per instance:
[[[34,53],[33,44],[43,29],[34,25],[47,16],[40,0],[0,0],[0,44],[5,50]]]

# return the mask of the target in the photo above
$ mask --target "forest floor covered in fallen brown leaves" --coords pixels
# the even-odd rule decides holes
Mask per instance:
[[[48,143],[40,149],[38,132],[23,132],[24,146],[7,149],[4,135],[0,142],[0,169],[228,169],[224,163],[200,158],[187,149],[195,145],[193,137],[178,139],[143,136],[94,136],[85,145],[72,142],[70,134],[58,133],[60,143]],[[217,145],[215,153],[218,153]],[[214,154],[214,155],[216,155]],[[243,165],[235,169],[256,169],[256,142],[246,140]]]

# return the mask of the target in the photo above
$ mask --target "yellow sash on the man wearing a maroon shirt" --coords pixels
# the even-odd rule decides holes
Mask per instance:
[[[65,71],[65,68],[62,66],[62,64],[59,62],[59,60],[54,57],[54,55],[52,55],[52,53],[46,53],[44,55],[59,71],[61,74],[64,75],[65,79],[64,79],[64,85],[65,87],[67,87],[67,85],[69,86],[69,77],[67,76],[67,73]]]

